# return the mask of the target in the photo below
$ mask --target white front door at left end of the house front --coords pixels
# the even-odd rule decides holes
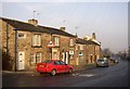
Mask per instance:
[[[25,54],[24,52],[18,52],[18,69],[24,69],[24,60],[25,60]]]

